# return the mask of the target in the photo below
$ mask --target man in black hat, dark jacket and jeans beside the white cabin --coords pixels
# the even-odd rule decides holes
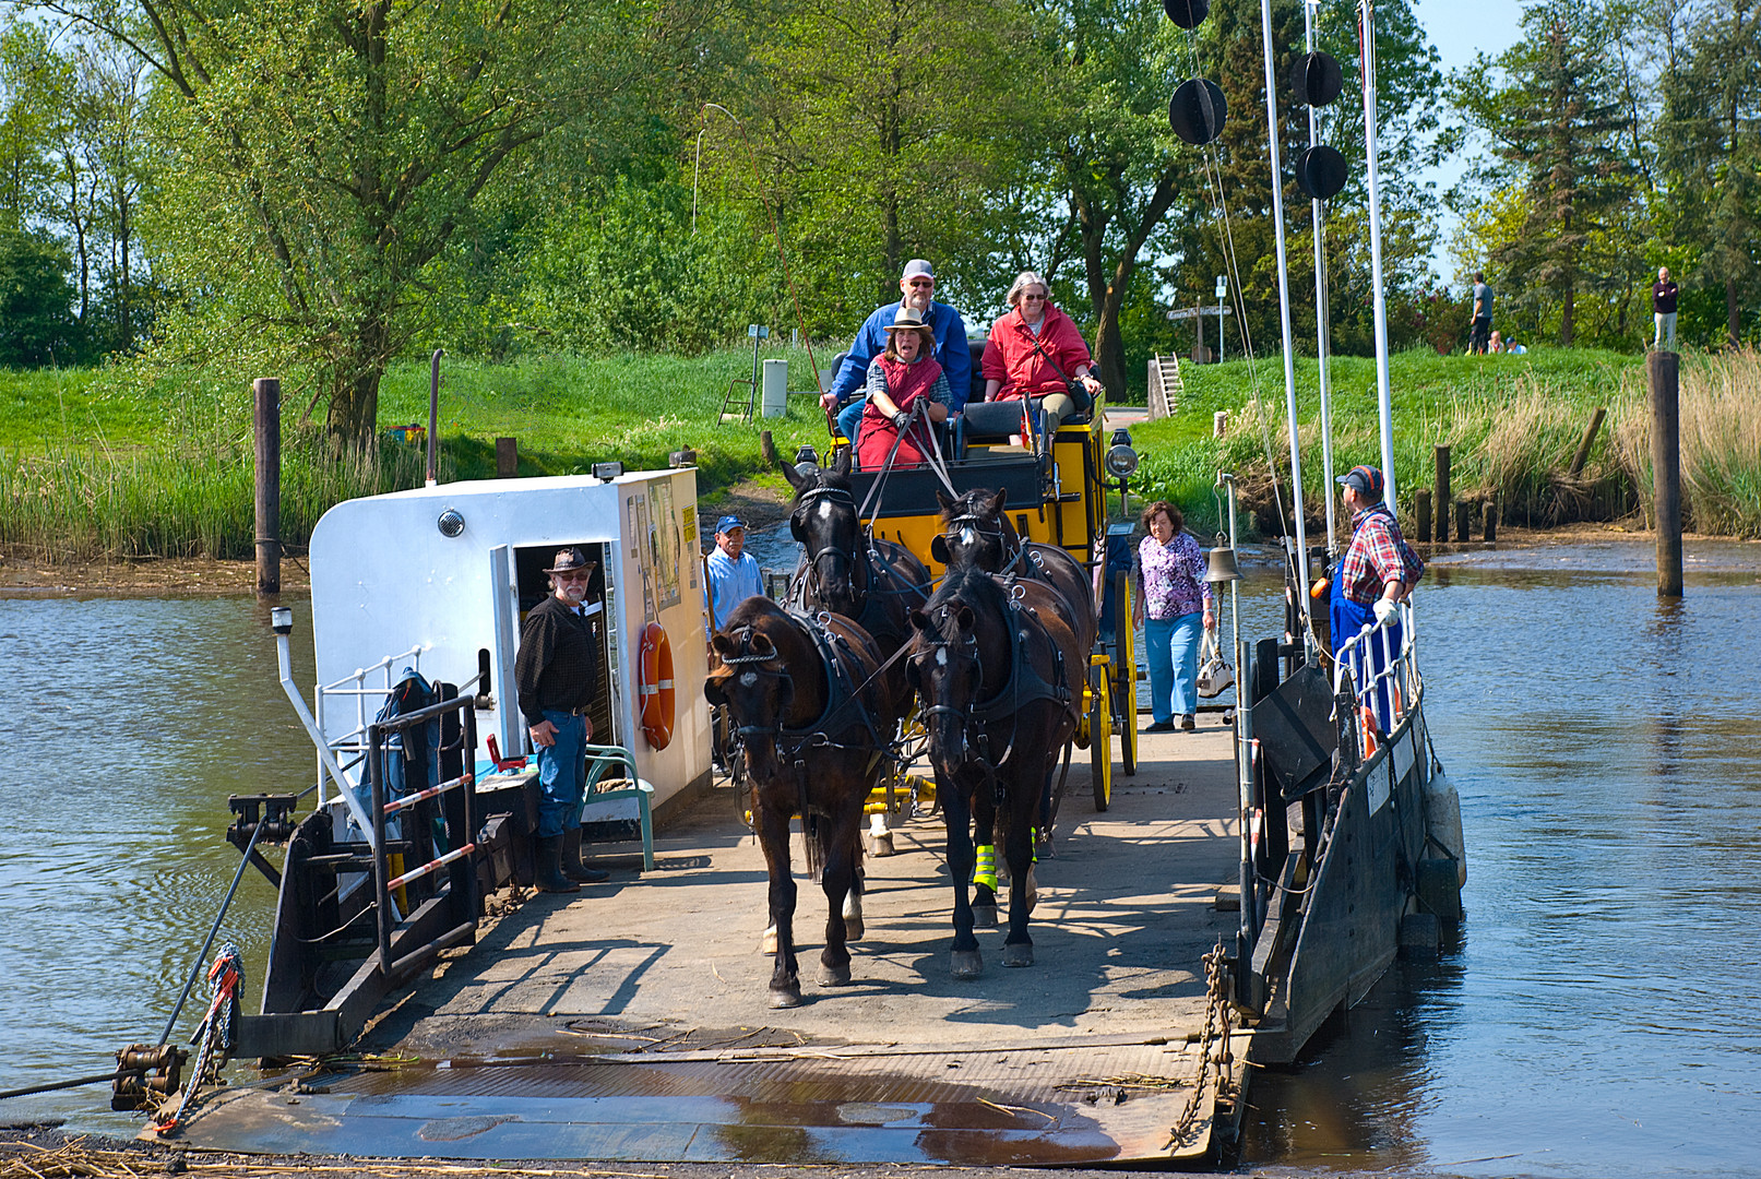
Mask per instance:
[[[514,686],[527,734],[539,758],[541,892],[579,892],[606,873],[581,864],[581,806],[586,802],[586,743],[593,721],[586,707],[599,692],[599,655],[586,625],[588,579],[597,561],[581,549],[556,551],[544,572],[551,593],[532,607],[519,630]]]

